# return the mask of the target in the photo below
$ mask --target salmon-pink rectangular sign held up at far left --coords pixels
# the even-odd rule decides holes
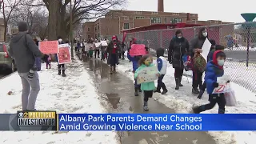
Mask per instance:
[[[39,42],[39,50],[43,54],[58,54],[58,41]]]

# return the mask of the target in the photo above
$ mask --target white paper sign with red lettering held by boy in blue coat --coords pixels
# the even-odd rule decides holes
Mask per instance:
[[[218,87],[214,88],[213,94],[221,94],[221,93],[227,93],[230,92],[231,87],[230,83],[230,77],[227,75],[223,75],[222,77],[217,78]]]

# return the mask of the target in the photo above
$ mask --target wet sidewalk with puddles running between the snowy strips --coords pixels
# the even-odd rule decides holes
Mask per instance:
[[[150,98],[149,111],[142,109],[142,94],[134,97],[134,82],[123,74],[110,74],[105,63],[94,58],[82,58],[86,69],[94,76],[99,94],[106,94],[113,106],[111,113],[174,113],[174,110]],[[215,144],[206,132],[118,132],[122,144]]]

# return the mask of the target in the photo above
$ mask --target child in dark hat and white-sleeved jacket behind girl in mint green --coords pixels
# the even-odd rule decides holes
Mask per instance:
[[[165,50],[163,50],[162,48],[159,48],[157,50],[157,66],[158,66],[158,71],[160,71],[160,77],[158,78],[158,87],[157,90],[154,90],[154,92],[158,92],[161,93],[161,89],[162,94],[166,94],[168,92],[168,90],[166,89],[166,85],[164,82],[162,82],[163,77],[166,74],[166,70],[167,70],[167,61],[166,58],[163,57],[165,53]]]

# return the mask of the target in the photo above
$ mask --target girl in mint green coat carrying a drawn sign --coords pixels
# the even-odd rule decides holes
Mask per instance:
[[[144,55],[138,62],[139,67],[134,73],[134,78],[135,79],[138,78],[138,71],[140,71],[146,67],[154,66],[152,62],[153,62],[153,58],[149,54]],[[159,77],[160,73],[158,73],[157,76]],[[148,100],[149,100],[149,98],[152,98],[152,96],[153,96],[153,90],[155,90],[154,82],[143,82],[141,84],[141,89],[143,90],[143,93],[144,93],[143,109],[149,110]]]

